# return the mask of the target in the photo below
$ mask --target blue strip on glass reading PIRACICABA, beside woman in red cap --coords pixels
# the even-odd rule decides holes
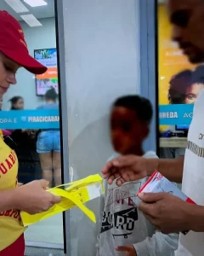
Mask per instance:
[[[59,129],[59,110],[0,111],[0,129]]]

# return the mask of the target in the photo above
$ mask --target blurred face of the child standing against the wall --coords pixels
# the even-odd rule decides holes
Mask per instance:
[[[116,152],[132,154],[141,148],[148,135],[148,127],[137,119],[135,111],[115,107],[111,113],[111,141]]]

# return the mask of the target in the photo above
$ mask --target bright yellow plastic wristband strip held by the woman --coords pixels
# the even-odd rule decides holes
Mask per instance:
[[[41,212],[35,215],[21,212],[21,219],[25,227],[73,207],[79,207],[88,218],[96,223],[94,212],[84,206],[84,203],[98,197],[100,193],[104,193],[103,180],[99,174],[85,177],[73,183],[59,185],[47,191],[53,195],[61,196],[61,202],[51,207],[47,212]]]

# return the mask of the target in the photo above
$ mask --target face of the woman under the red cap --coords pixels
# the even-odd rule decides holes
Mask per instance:
[[[0,97],[7,92],[10,84],[16,84],[15,74],[19,67],[0,52]]]

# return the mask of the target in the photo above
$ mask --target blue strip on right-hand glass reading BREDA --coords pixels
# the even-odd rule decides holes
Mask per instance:
[[[193,118],[193,104],[160,105],[160,125],[190,125]]]

